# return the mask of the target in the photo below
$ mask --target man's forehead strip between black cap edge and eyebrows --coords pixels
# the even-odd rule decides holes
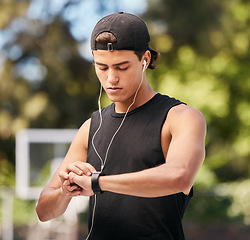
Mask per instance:
[[[139,61],[134,51],[129,50],[94,50],[93,56],[95,62],[101,62],[104,64],[116,64],[118,62],[128,61],[135,62]]]

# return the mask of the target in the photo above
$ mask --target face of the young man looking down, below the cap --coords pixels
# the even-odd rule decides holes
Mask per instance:
[[[95,70],[113,102],[130,102],[142,79],[142,61],[134,51],[95,50]]]

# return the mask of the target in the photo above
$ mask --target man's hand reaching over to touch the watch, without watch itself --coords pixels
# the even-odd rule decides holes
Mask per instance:
[[[92,172],[96,171],[95,168],[84,162],[74,162],[67,165],[65,171],[59,172],[59,177],[61,179],[62,191],[67,196],[89,196],[89,193],[86,193],[82,187],[78,186],[74,181],[69,181],[69,174],[74,173],[77,176],[91,176]]]

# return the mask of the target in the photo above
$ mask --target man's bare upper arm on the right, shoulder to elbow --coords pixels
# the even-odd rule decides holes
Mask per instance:
[[[188,106],[173,109],[169,115],[171,142],[166,163],[181,169],[192,185],[205,157],[205,119]]]

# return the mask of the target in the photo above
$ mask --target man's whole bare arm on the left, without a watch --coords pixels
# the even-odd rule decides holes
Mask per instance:
[[[36,207],[37,215],[41,221],[48,221],[62,215],[67,209],[72,196],[81,193],[81,191],[77,191],[76,185],[68,184],[68,172],[72,171],[79,175],[91,175],[91,172],[95,171],[91,165],[85,163],[87,158],[89,127],[90,120],[81,126],[63,162],[49,184],[42,191]],[[65,187],[62,187],[63,185]],[[69,196],[69,192],[74,194]]]

